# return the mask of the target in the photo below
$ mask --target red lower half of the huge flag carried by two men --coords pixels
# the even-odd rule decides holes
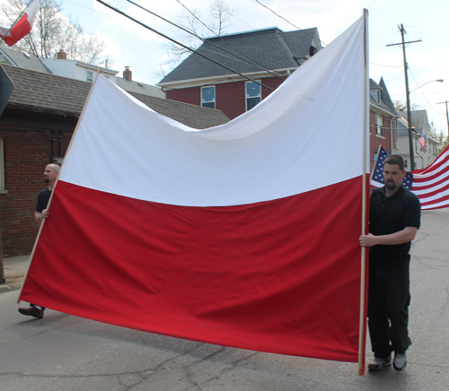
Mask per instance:
[[[362,178],[187,207],[59,180],[21,300],[146,332],[357,362]]]

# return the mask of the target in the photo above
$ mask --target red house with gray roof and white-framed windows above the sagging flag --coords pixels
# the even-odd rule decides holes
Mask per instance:
[[[233,119],[267,98],[319,50],[316,28],[273,27],[208,38],[157,85],[167,99],[219,109]]]

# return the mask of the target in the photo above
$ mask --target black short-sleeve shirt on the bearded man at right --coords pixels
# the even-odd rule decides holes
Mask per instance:
[[[385,187],[373,190],[371,196],[369,231],[375,236],[388,235],[406,227],[419,228],[421,204],[418,196],[400,187],[392,196],[385,195]],[[411,242],[400,245],[377,245],[370,248],[373,264],[409,265]]]

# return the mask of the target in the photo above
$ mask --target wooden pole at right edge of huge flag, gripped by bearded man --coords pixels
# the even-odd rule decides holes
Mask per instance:
[[[362,192],[362,233],[366,232],[366,145],[367,145],[367,110],[369,109],[367,95],[367,83],[368,83],[368,50],[367,50],[367,18],[368,10],[364,9],[364,152],[363,152],[363,192]],[[365,335],[366,335],[366,312],[365,312],[365,274],[366,274],[366,248],[361,248],[361,271],[360,271],[360,325],[359,325],[359,338],[358,338],[358,374],[360,376],[365,375]]]

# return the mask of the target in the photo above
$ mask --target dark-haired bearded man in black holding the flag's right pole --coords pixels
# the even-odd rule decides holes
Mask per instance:
[[[373,190],[369,233],[360,245],[369,247],[368,328],[374,361],[368,369],[381,370],[392,364],[407,365],[409,338],[409,250],[420,225],[418,196],[402,187],[404,161],[390,155],[384,161],[384,187]]]

